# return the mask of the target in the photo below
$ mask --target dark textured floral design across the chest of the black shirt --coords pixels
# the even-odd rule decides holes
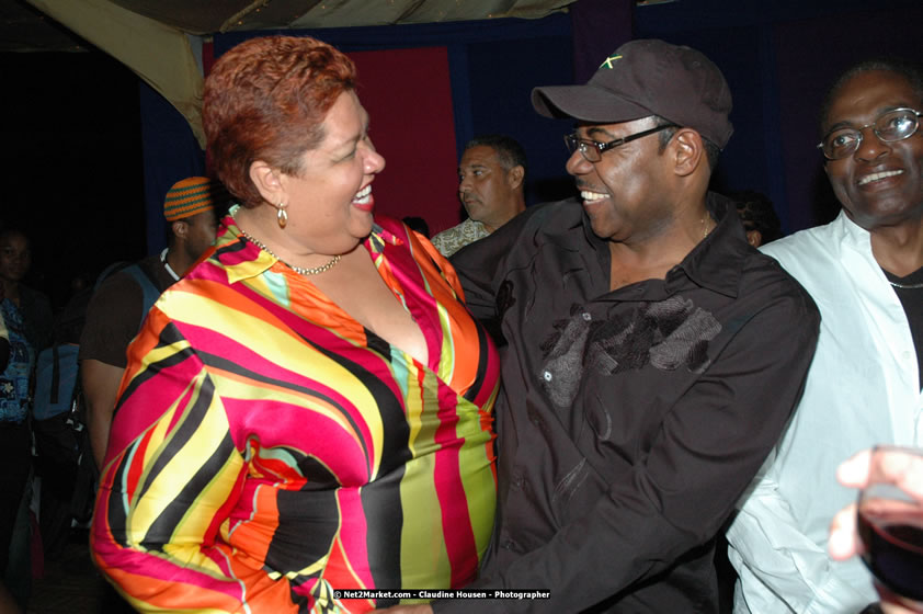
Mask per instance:
[[[685,367],[703,373],[710,362],[708,342],[720,331],[715,316],[682,296],[639,303],[606,320],[573,305],[570,317],[555,321],[542,343],[546,360],[539,380],[551,402],[568,407],[585,369],[614,375],[650,364],[661,371]]]

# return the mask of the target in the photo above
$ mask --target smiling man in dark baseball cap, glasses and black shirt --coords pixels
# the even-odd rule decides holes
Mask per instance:
[[[705,56],[635,41],[533,104],[577,121],[580,198],[527,209],[453,263],[509,342],[477,587],[550,596],[477,610],[717,612],[715,537],[798,400],[817,308],[707,192],[731,96]]]

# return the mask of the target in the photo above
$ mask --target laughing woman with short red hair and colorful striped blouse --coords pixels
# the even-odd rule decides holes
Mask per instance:
[[[363,612],[462,587],[493,524],[498,359],[452,266],[374,215],[352,61],[251,39],[205,83],[240,200],[128,350],[93,520],[141,611]]]

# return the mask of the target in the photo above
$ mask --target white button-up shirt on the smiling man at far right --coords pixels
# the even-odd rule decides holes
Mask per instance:
[[[801,402],[728,531],[734,612],[857,613],[877,596],[857,557],[827,554],[833,514],[856,498],[835,473],[878,443],[923,446],[910,325],[870,235],[844,213],[763,251],[805,286],[822,320]]]

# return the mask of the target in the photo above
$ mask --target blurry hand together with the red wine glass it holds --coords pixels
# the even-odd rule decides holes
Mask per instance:
[[[831,556],[863,557],[885,612],[923,612],[923,450],[877,446],[843,463],[837,478],[862,492],[833,519]]]

